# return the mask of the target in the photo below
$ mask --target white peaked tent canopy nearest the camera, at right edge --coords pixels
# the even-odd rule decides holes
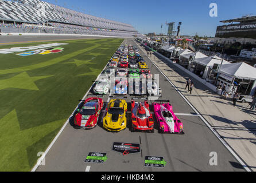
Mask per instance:
[[[239,79],[256,79],[256,68],[245,62],[223,65],[220,68],[220,73],[228,74]]]

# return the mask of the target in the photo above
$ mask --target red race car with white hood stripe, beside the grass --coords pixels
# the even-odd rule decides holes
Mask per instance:
[[[74,125],[76,129],[92,129],[97,125],[100,111],[103,108],[102,98],[87,98],[80,109],[77,109]]]

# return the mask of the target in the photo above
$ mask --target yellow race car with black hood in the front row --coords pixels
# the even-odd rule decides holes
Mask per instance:
[[[108,131],[119,132],[126,129],[127,103],[113,99],[107,105],[107,114],[103,118],[103,127]]]

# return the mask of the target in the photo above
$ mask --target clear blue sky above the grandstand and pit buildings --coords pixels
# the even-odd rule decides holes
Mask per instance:
[[[165,22],[182,22],[181,35],[214,36],[219,21],[255,15],[255,0],[46,0],[83,13],[130,23],[140,33],[165,33]],[[218,17],[210,17],[210,3],[218,5]],[[161,23],[163,27],[161,30]]]

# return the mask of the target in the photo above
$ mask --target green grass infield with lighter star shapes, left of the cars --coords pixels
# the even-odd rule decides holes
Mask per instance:
[[[0,171],[33,168],[37,153],[49,146],[122,41],[104,38],[0,46],[1,51],[68,43],[37,49],[36,54],[26,53],[33,50],[0,54]]]

